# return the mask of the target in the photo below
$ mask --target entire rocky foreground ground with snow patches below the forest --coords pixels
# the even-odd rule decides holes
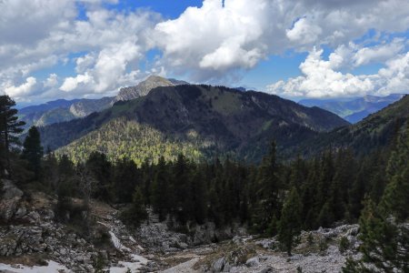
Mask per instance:
[[[238,226],[170,231],[152,210],[142,227],[130,231],[117,209],[96,201],[92,228],[81,236],[75,226],[55,221],[55,197],[27,196],[8,180],[3,185],[0,272],[339,272],[358,246],[357,226],[320,228],[303,232],[288,257],[274,238],[247,236]],[[347,245],[340,249],[341,238]]]

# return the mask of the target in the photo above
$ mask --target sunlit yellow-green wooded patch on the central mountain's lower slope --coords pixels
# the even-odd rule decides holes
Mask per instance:
[[[173,139],[166,137],[152,126],[119,118],[72,144],[58,149],[56,153],[67,155],[74,162],[81,162],[94,152],[98,152],[104,153],[109,161],[126,158],[133,160],[137,166],[141,166],[145,158],[157,163],[160,157],[174,160],[180,153],[199,160],[202,158],[200,147],[195,139],[192,141]]]

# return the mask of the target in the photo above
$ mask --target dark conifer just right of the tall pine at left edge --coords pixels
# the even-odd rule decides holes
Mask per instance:
[[[30,170],[35,173],[35,179],[38,179],[41,171],[43,147],[41,146],[40,133],[35,126],[28,130],[28,135],[25,137],[22,157],[28,161]]]

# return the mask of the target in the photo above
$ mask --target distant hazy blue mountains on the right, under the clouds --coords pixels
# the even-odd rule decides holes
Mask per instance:
[[[338,116],[344,117],[350,123],[356,123],[385,106],[401,99],[404,95],[363,96],[340,99],[304,99],[299,103],[303,106],[318,106]]]

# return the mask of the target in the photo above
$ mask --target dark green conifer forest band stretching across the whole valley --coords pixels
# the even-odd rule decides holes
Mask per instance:
[[[22,144],[15,137],[23,123],[14,101],[0,97],[3,177],[22,188],[55,195],[55,215],[62,223],[78,221],[90,199],[123,205],[123,221],[138,227],[146,207],[175,227],[212,221],[216,227],[239,223],[254,234],[278,235],[289,255],[301,230],[359,223],[361,260],[348,260],[344,272],[409,270],[409,122],[387,147],[355,156],[353,149],[328,147],[314,157],[284,160],[274,140],[260,164],[234,158],[200,162],[179,154],[136,165],[131,158],[110,161],[93,152],[75,163],[41,147],[32,126]],[[85,200],[81,206],[73,198]],[[176,225],[177,223],[177,225]],[[181,225],[182,224],[182,225]]]

